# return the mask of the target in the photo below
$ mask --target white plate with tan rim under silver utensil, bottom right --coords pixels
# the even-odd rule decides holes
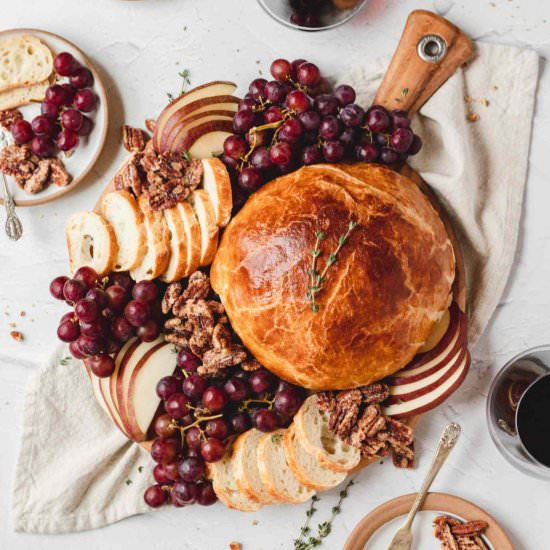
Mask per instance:
[[[387,550],[393,536],[405,522],[416,493],[403,495],[375,508],[352,531],[344,550]],[[483,541],[490,550],[514,550],[508,535],[487,512],[453,495],[429,493],[413,524],[412,548],[440,550],[441,543],[433,536],[432,521],[446,514],[463,521],[481,519],[489,524]]]

